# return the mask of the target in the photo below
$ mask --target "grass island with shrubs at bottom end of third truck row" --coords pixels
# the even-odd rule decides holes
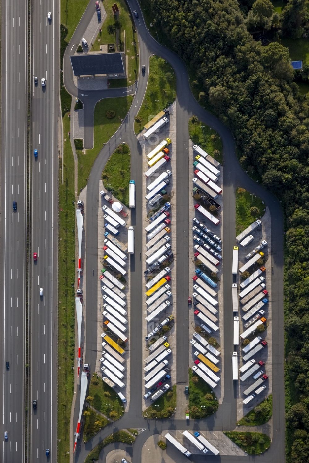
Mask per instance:
[[[212,389],[189,369],[189,412],[190,417],[199,419],[216,413],[218,400]]]

